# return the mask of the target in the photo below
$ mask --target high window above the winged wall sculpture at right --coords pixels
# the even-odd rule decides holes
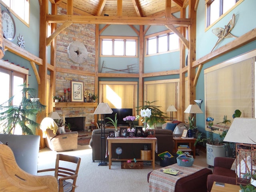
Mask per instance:
[[[216,23],[225,13],[230,12],[237,2],[243,0],[206,0],[206,27]]]

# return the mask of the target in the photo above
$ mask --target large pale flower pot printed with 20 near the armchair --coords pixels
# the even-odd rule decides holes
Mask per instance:
[[[226,148],[225,144],[223,145],[211,145],[206,143],[206,159],[207,164],[214,166],[215,157],[226,157]]]

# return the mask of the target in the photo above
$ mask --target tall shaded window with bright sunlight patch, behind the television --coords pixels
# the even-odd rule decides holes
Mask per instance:
[[[110,108],[132,108],[136,115],[138,82],[99,82],[99,102]]]

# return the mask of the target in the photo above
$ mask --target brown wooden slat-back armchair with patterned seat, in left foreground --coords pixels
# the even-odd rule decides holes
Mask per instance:
[[[54,171],[54,176],[58,180],[59,192],[74,192],[80,161],[80,157],[57,154],[55,168],[38,170],[38,173]],[[72,182],[67,180],[72,180]]]

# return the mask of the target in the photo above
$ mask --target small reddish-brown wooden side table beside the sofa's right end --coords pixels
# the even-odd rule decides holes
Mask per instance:
[[[174,146],[175,146],[175,153],[179,151],[184,152],[193,152],[193,157],[196,158],[196,146],[194,146],[194,143],[196,141],[196,138],[184,138],[184,137],[174,137]],[[179,143],[187,143],[189,148],[178,148]]]

